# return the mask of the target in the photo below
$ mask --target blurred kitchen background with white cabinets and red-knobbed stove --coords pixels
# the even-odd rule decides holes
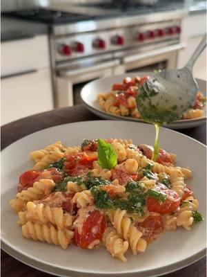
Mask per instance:
[[[78,105],[97,78],[181,68],[204,33],[206,1],[1,0],[1,125]]]

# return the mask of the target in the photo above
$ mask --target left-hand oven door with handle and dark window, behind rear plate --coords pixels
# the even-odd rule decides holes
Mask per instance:
[[[75,62],[57,69],[56,107],[68,107],[81,104],[82,87],[91,80],[114,75],[113,71],[120,60],[88,59],[84,63]]]

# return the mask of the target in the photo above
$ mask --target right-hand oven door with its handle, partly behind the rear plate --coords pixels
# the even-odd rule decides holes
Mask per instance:
[[[179,43],[155,49],[139,49],[137,53],[125,53],[122,57],[122,73],[176,68],[178,51],[185,46]],[[119,73],[120,71],[117,72]]]

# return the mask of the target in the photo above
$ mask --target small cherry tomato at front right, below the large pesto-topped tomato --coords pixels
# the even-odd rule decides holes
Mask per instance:
[[[144,237],[153,238],[164,230],[164,222],[160,215],[150,215],[141,222],[141,227],[144,228]]]

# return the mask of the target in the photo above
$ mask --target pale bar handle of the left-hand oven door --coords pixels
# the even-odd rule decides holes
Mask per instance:
[[[101,62],[99,64],[95,64],[92,66],[87,66],[87,67],[83,67],[81,69],[70,69],[70,70],[66,70],[66,69],[62,69],[59,70],[59,76],[61,77],[72,77],[75,75],[80,75],[80,74],[84,74],[84,73],[89,73],[92,71],[99,71],[102,69],[108,69],[111,68],[112,66],[117,66],[119,65],[120,62],[119,60],[112,60],[112,61],[108,61],[108,62]]]

